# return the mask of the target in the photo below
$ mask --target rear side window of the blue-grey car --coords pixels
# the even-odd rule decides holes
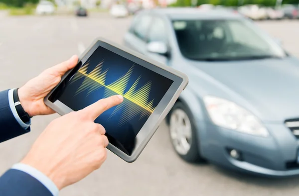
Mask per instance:
[[[151,19],[150,15],[143,15],[136,18],[131,31],[140,39],[146,40]]]

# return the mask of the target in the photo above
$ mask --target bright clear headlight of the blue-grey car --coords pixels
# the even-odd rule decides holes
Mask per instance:
[[[254,114],[236,103],[212,96],[207,96],[203,100],[216,125],[251,135],[263,137],[269,135],[266,127]]]

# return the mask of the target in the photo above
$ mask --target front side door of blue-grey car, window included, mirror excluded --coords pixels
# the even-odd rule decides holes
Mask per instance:
[[[146,47],[148,47],[148,44],[150,44],[151,42],[162,43],[166,46],[168,52],[165,54],[158,54],[154,52],[149,52],[149,50],[146,49],[145,55],[149,56],[150,58],[156,61],[168,65],[168,57],[170,56],[170,50],[168,44],[166,24],[165,21],[158,16],[153,17],[152,22],[150,23],[149,32],[146,39]]]

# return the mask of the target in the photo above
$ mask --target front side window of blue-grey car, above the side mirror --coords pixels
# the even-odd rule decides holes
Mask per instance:
[[[161,18],[155,18],[149,29],[148,42],[159,41],[166,43],[166,26]]]

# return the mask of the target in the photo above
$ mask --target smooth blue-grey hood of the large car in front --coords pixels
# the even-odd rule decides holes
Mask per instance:
[[[187,73],[190,85],[198,87],[200,81],[203,85],[208,83],[206,88],[201,87],[205,94],[234,101],[263,121],[299,117],[299,60],[296,58],[189,61],[188,64],[193,67]]]

